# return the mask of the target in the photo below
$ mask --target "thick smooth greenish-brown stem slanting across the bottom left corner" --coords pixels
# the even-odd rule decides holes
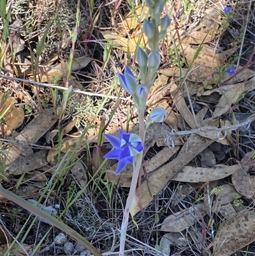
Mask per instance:
[[[100,252],[98,252],[98,250],[94,246],[91,245],[91,243],[89,243],[87,239],[82,237],[75,230],[68,227],[68,225],[62,223],[60,220],[57,220],[56,218],[49,215],[48,213],[45,213],[45,211],[41,210],[36,206],[33,206],[33,204],[30,204],[26,200],[22,199],[21,197],[18,197],[17,195],[6,190],[3,187],[0,187],[0,192],[1,192],[1,197],[9,199],[12,202],[15,202],[15,204],[18,204],[18,206],[21,206],[24,209],[27,209],[27,211],[30,211],[31,213],[34,213],[34,215],[40,216],[44,220],[47,220],[47,222],[50,223],[50,225],[57,227],[57,229],[60,229],[63,232],[66,232],[66,234],[71,236],[78,243],[81,243],[82,245],[84,245],[85,248],[87,248],[95,256],[103,256]]]

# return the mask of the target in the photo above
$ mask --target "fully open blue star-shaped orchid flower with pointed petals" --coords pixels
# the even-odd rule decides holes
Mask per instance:
[[[135,133],[125,133],[119,130],[119,137],[104,134],[105,138],[112,144],[113,150],[105,154],[104,158],[118,159],[115,174],[119,174],[128,163],[134,163],[136,154],[143,151],[142,139]]]

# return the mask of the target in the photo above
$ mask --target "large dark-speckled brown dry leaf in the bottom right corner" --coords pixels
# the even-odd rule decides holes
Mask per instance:
[[[255,210],[237,213],[219,225],[214,255],[230,256],[255,241]]]

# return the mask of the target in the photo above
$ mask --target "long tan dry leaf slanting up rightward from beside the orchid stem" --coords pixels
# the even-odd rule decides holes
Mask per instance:
[[[154,172],[150,172],[147,175],[147,180],[150,183],[150,188],[147,184],[147,180],[143,181],[140,185],[140,192],[142,198],[139,197],[138,190],[136,189],[135,197],[133,199],[132,205],[130,207],[131,216],[134,216],[140,211],[140,205],[144,208],[153,199],[153,195],[157,195],[163,188],[168,184],[173,176],[175,176],[180,169],[187,165],[195,156],[197,156],[201,151],[206,149],[215,140],[210,140],[205,143],[193,144],[191,149],[179,153],[179,155],[173,159],[170,163],[166,163]],[[196,145],[196,146],[194,146]],[[187,149],[186,144],[182,148]],[[151,189],[151,190],[150,190]]]

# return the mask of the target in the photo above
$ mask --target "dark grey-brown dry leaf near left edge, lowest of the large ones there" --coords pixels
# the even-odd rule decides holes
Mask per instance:
[[[5,176],[17,176],[25,172],[31,172],[48,164],[46,160],[48,151],[40,150],[30,156],[19,156],[14,161],[6,161]]]

